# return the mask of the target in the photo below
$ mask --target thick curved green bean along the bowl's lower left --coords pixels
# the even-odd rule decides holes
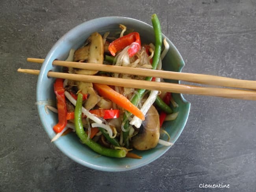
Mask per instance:
[[[85,133],[83,129],[82,124],[82,99],[83,95],[78,94],[77,101],[76,101],[76,107],[75,107],[75,129],[76,129],[76,135],[80,138],[83,144],[86,144],[89,148],[91,148],[93,151],[105,155],[108,157],[125,157],[126,151],[125,150],[114,150],[102,147],[100,144],[96,143],[92,139],[88,138],[88,135]]]

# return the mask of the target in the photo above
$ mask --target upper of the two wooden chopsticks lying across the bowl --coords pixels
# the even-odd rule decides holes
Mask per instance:
[[[44,59],[27,58],[27,61],[33,62],[33,63],[43,63]],[[256,81],[226,78],[226,77],[213,76],[213,75],[172,72],[172,71],[152,70],[152,69],[143,69],[143,68],[132,68],[132,67],[125,67],[125,66],[100,65],[100,64],[94,64],[94,63],[68,62],[68,61],[59,61],[59,60],[54,60],[52,64],[58,65],[58,66],[67,66],[67,67],[82,68],[82,69],[88,69],[88,70],[100,70],[105,72],[132,74],[132,75],[138,75],[138,76],[149,76],[149,77],[153,76],[153,77],[164,78],[164,79],[173,79],[173,80],[181,80],[181,81],[187,81],[187,82],[193,82],[193,83],[200,83],[205,85],[215,85],[215,86],[221,86],[221,87],[234,87],[234,88],[241,88],[241,89],[256,90]]]

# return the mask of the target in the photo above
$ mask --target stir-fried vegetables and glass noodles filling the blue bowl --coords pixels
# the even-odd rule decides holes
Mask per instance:
[[[141,42],[141,34],[137,31],[128,33],[126,26],[120,24],[118,37],[108,31],[105,34],[95,31],[82,47],[70,50],[66,61],[161,70],[161,60],[165,57],[169,44],[165,39],[162,41],[161,26],[156,14],[152,15],[152,25],[155,44]],[[147,81],[162,80],[71,67],[64,71]],[[143,157],[130,152],[133,149],[150,150],[158,144],[172,145],[160,138],[160,133],[168,135],[162,127],[163,122],[174,120],[178,116],[178,113],[173,113],[173,108],[178,106],[169,92],[68,79],[56,79],[54,92],[57,109],[48,106],[48,109],[58,112],[58,123],[53,127],[56,136],[52,141],[61,135],[75,132],[81,142],[96,153],[136,159]]]

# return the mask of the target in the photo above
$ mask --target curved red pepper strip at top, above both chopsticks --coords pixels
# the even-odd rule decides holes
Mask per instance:
[[[128,45],[131,45],[128,49],[129,57],[134,56],[141,49],[141,39],[138,32],[129,33],[128,35],[124,35],[123,37],[119,37],[115,41],[112,41],[108,46],[108,50],[111,55],[115,56],[118,51]]]

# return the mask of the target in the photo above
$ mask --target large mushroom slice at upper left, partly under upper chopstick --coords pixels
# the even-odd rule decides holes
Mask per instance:
[[[104,60],[104,45],[102,36],[95,32],[87,39],[86,46],[76,50],[74,54],[74,61],[84,60],[87,63],[103,64]],[[86,70],[86,69],[75,69],[76,74],[83,75],[94,75],[98,71]]]

